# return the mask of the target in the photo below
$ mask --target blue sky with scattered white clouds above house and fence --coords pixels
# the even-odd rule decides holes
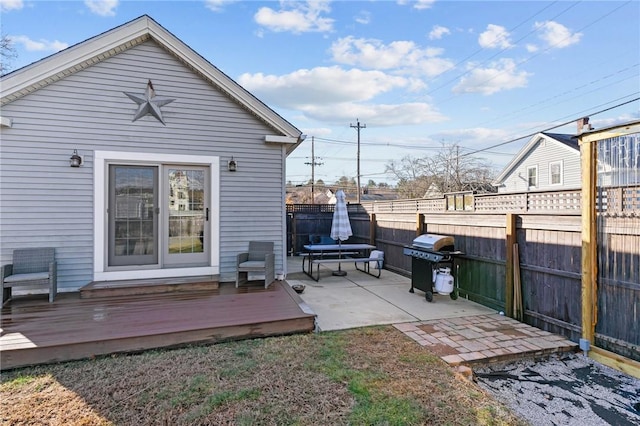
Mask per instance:
[[[307,135],[293,184],[394,184],[452,144],[499,172],[537,132],[640,118],[638,0],[0,0],[10,70],[145,14]]]

